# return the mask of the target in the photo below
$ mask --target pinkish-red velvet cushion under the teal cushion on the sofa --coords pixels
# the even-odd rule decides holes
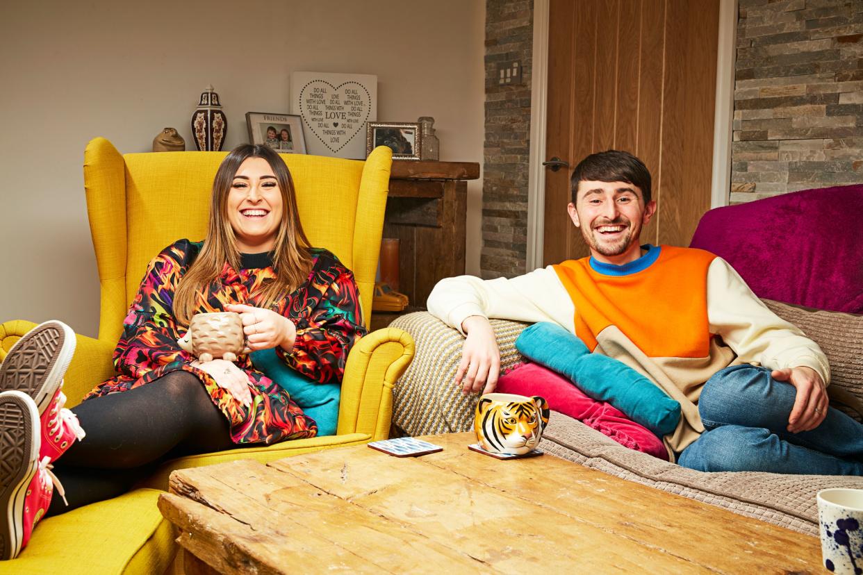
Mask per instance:
[[[609,403],[587,397],[568,378],[546,367],[534,363],[515,366],[501,375],[495,391],[545,397],[551,409],[608,435],[620,445],[668,460],[668,451],[650,430],[633,422]]]

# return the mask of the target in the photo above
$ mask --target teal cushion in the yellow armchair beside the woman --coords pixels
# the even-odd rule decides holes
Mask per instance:
[[[279,384],[306,416],[318,423],[318,437],[336,434],[342,384],[318,384],[288,367],[274,349],[252,352],[250,357],[256,370]]]

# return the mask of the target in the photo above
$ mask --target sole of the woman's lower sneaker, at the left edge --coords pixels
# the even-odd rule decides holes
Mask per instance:
[[[24,508],[39,469],[39,426],[31,397],[21,391],[0,393],[0,559],[15,559],[33,531]]]

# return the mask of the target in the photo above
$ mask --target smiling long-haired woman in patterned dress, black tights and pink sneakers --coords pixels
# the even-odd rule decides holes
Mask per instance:
[[[267,146],[237,147],[219,166],[205,241],[177,241],[150,262],[114,352],[117,377],[61,409],[74,335],[60,322],[25,335],[0,364],[0,414],[19,409],[43,438],[0,418],[0,436],[22,438],[25,453],[21,466],[0,469],[9,518],[0,559],[26,545],[40,509],[50,516],[116,497],[165,459],[315,435],[315,422],[248,356],[200,363],[180,348],[192,315],[209,311],[239,313],[251,350],[274,348],[318,382],[341,381],[365,333],[353,275],[309,247],[290,173]],[[35,353],[54,366],[39,377],[28,366]],[[85,441],[75,441],[81,429]],[[52,500],[47,464],[60,455],[54,472],[66,497]]]

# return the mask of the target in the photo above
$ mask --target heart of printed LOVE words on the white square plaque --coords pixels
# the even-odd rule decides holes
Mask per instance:
[[[332,153],[364,131],[370,109],[371,95],[359,82],[333,85],[318,79],[299,90],[299,115],[306,128]]]

